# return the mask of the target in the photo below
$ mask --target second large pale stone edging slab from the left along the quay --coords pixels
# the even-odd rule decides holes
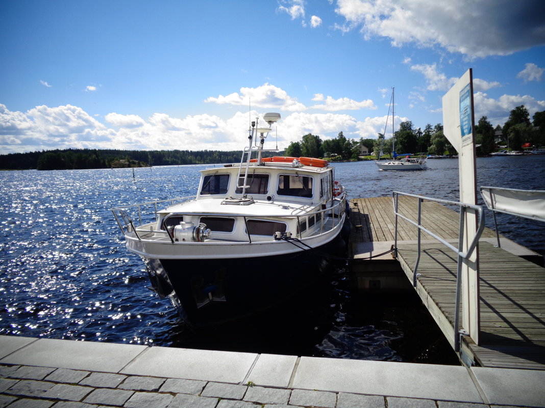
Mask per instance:
[[[116,373],[146,349],[145,345],[41,338],[2,358],[0,363]]]

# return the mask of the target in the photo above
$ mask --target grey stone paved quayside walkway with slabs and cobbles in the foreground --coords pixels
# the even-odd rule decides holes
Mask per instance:
[[[0,407],[545,407],[545,372],[0,336]]]

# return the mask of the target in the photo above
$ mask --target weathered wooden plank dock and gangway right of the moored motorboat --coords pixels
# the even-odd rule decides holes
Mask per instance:
[[[352,251],[355,262],[366,261],[395,239],[391,197],[351,201]],[[417,203],[399,197],[404,215],[416,219]],[[422,202],[422,225],[445,240],[457,242],[459,214],[437,202]],[[397,260],[413,282],[417,228],[398,220]],[[485,228],[479,242],[481,344],[462,337],[461,351],[482,367],[545,370],[545,268],[525,258],[535,253]],[[507,251],[506,249],[509,249]],[[362,255],[364,254],[364,255]],[[533,255],[532,255],[533,254]],[[391,258],[391,255],[390,255]],[[453,344],[456,254],[422,232],[416,292],[448,341]]]

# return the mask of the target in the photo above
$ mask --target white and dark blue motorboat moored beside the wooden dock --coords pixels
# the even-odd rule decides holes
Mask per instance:
[[[263,147],[279,119],[251,122],[240,163],[202,170],[195,196],[112,208],[150,289],[192,326],[294,299],[327,275],[328,262],[344,259],[346,191],[326,160],[264,157],[277,151]]]

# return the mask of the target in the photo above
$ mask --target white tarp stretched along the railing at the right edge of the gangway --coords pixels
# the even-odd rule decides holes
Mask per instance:
[[[545,221],[545,190],[481,187],[481,195],[489,209]]]

